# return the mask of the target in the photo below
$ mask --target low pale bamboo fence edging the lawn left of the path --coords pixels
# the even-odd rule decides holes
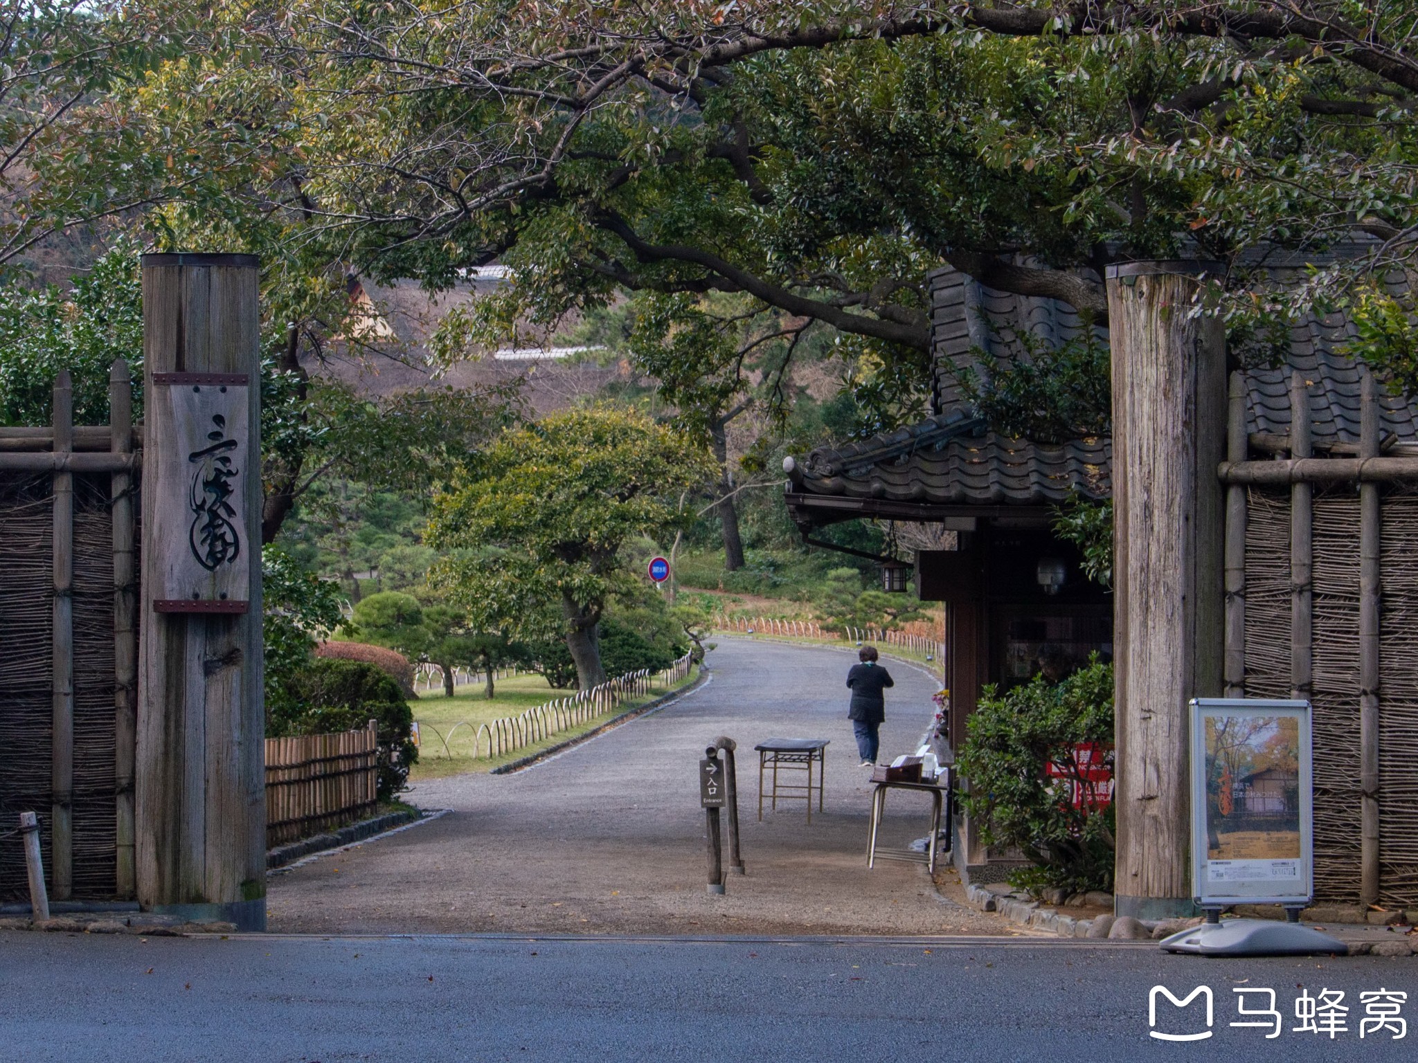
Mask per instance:
[[[630,672],[624,676],[608,679],[600,686],[577,690],[570,697],[559,697],[554,702],[533,706],[516,716],[503,716],[491,723],[474,724],[468,720],[459,720],[448,729],[448,734],[444,734],[431,723],[421,720],[417,721],[417,727],[420,731],[427,729],[438,736],[438,740],[442,743],[444,757],[452,757],[448,741],[458,733],[459,727],[467,727],[474,731],[472,758],[485,757],[492,760],[535,746],[539,741],[550,738],[553,734],[580,727],[601,716],[608,716],[625,702],[652,694],[657,686],[668,693],[676,683],[689,677],[692,668],[692,655],[685,653],[661,672],[651,672],[649,669]]]

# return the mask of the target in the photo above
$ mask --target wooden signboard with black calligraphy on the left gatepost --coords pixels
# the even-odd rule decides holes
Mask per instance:
[[[147,452],[157,492],[153,534],[173,549],[155,573],[159,612],[244,612],[250,598],[247,485],[258,466],[250,454],[245,376],[160,373],[153,377],[149,424],[166,427]],[[159,448],[162,448],[159,451]],[[182,543],[182,549],[176,544]]]

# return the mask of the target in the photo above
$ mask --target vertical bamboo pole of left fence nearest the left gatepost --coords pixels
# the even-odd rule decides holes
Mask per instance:
[[[108,374],[109,444],[116,455],[133,446],[133,377],[128,363]],[[109,502],[113,520],[113,794],[118,836],[118,896],[136,890],[133,870],[133,758],[138,741],[138,566],[133,556],[133,476],[113,473]]]

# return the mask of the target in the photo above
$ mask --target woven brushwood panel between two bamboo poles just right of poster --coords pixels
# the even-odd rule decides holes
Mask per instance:
[[[1358,901],[1358,493],[1314,496],[1314,894]]]

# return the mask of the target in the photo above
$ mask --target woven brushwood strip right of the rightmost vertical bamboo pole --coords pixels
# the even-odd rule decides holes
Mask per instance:
[[[1380,900],[1418,903],[1418,493],[1383,499],[1378,645]]]

